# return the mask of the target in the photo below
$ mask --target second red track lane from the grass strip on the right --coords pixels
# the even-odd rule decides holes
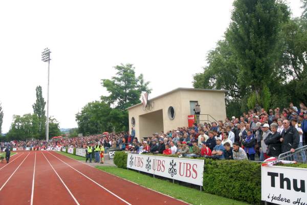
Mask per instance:
[[[127,205],[127,203],[124,203],[120,199],[101,189],[94,182],[71,169],[56,157],[47,152],[43,152],[43,154],[50,161],[53,168],[56,170],[80,204],[101,205],[101,203],[107,202],[107,204]],[[49,204],[51,205],[54,203],[51,202]]]

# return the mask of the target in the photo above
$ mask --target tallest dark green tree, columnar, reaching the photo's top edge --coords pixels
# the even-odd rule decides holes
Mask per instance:
[[[268,81],[274,76],[280,55],[282,25],[290,19],[288,7],[276,0],[236,0],[232,22],[226,32],[231,50],[237,56],[242,85],[251,87],[262,106]],[[269,91],[270,92],[270,91]]]

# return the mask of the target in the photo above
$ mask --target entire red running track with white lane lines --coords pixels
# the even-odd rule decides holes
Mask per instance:
[[[18,152],[0,165],[0,204],[187,204],[56,152]]]

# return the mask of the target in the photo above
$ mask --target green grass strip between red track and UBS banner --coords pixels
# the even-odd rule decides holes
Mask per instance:
[[[199,190],[177,185],[168,180],[153,178],[146,174],[140,174],[133,170],[126,170],[117,167],[108,166],[96,166],[97,169],[114,174],[120,178],[133,181],[138,185],[143,187],[161,192],[168,196],[180,199],[187,203],[197,204],[197,205],[240,205],[248,204],[242,201],[236,201],[233,199],[207,194],[205,192],[200,192]]]

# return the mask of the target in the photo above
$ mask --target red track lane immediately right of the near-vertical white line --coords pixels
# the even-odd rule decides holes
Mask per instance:
[[[36,152],[33,204],[76,204],[42,152]]]

